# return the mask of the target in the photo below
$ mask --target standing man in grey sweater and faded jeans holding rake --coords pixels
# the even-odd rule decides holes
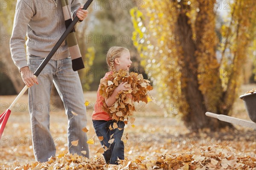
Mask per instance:
[[[88,11],[82,8],[79,0],[17,1],[10,49],[23,82],[29,87],[29,113],[36,161],[47,161],[56,153],[49,130],[52,82],[61,96],[68,117],[69,151],[89,158],[87,136],[82,131],[87,124],[84,96],[78,72],[72,69],[72,66],[74,67],[71,61],[72,50],[67,41],[61,44],[38,79],[33,76],[35,70],[66,30],[65,22],[69,14],[70,18],[77,15],[80,21],[87,16]],[[26,50],[25,37],[27,37]],[[26,54],[28,59],[26,59]],[[78,145],[73,146],[71,142],[77,140]],[[85,155],[81,153],[83,150],[86,151]]]

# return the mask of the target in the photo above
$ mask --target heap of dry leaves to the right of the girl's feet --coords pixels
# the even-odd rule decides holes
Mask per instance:
[[[162,169],[162,170],[217,170],[217,169],[253,169],[256,158],[239,157],[232,147],[212,145],[192,148],[186,153],[168,153],[154,157],[137,156],[134,160],[120,161],[118,169]]]

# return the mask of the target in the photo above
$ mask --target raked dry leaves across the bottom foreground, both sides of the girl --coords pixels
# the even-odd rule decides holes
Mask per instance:
[[[98,153],[104,153],[101,147]],[[87,159],[77,154],[60,154],[49,158],[44,163],[33,162],[15,169],[32,170],[108,170],[108,164],[102,158]],[[136,156],[132,159],[119,160],[119,165],[111,165],[111,170],[223,170],[256,168],[256,158],[237,156],[232,147],[212,145],[192,148],[186,153],[167,153],[164,155]]]

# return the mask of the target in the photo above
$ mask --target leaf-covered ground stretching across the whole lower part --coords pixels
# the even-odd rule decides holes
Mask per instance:
[[[254,86],[243,86],[240,94]],[[151,95],[156,94],[153,91]],[[15,97],[0,96],[1,112]],[[125,125],[125,160],[119,165],[106,165],[90,120],[93,112],[90,103],[96,101],[96,92],[86,92],[84,97],[89,101],[87,137],[90,159],[67,153],[67,117],[64,110],[52,106],[50,128],[56,144],[56,157],[45,163],[36,162],[27,96],[24,95],[17,103],[16,111],[15,108],[12,110],[1,138],[0,169],[256,169],[256,131],[235,125],[236,129],[218,132],[204,129],[199,133],[189,133],[182,122],[166,115],[160,103],[152,102],[136,104],[134,125]],[[241,99],[236,101],[232,116],[249,120]]]

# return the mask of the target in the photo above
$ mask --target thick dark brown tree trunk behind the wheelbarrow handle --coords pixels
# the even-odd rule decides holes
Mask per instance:
[[[205,102],[204,95],[199,90],[198,84],[198,62],[196,60],[197,46],[195,43],[190,42],[189,37],[192,37],[192,27],[189,24],[189,18],[186,16],[186,11],[180,11],[177,17],[176,34],[180,40],[180,46],[183,51],[183,65],[181,72],[182,94],[184,94],[186,103],[188,105],[187,114],[183,116],[183,121],[186,127],[191,131],[198,131],[204,127],[210,127],[211,130],[217,130],[220,127],[230,126],[226,122],[221,122],[218,119],[207,117],[207,103]],[[183,40],[184,39],[184,40]],[[214,105],[216,108],[219,106]],[[183,108],[180,108],[182,111]]]

